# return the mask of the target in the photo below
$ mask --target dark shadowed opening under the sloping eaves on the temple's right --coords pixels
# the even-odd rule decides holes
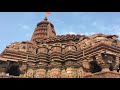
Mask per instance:
[[[91,61],[89,64],[91,73],[100,72],[102,70],[102,68],[97,64],[97,61]]]

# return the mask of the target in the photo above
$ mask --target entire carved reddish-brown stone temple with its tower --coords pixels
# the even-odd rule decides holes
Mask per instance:
[[[120,78],[117,35],[57,35],[45,17],[31,40],[0,54],[0,78]]]

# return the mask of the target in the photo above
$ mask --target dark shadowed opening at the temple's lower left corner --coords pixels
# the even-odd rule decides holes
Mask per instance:
[[[20,70],[18,65],[11,65],[7,70],[6,73],[13,76],[19,76]]]

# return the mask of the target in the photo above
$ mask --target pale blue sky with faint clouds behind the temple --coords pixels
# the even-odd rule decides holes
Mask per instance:
[[[0,53],[13,42],[30,40],[45,12],[0,12]],[[51,12],[57,35],[95,33],[120,36],[120,12]],[[120,39],[120,38],[119,38]]]

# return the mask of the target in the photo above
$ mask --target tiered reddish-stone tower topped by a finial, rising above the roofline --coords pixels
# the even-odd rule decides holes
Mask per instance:
[[[43,39],[53,37],[56,37],[54,25],[48,21],[47,17],[45,17],[43,21],[37,24],[37,27],[33,32],[31,41],[41,42]]]

